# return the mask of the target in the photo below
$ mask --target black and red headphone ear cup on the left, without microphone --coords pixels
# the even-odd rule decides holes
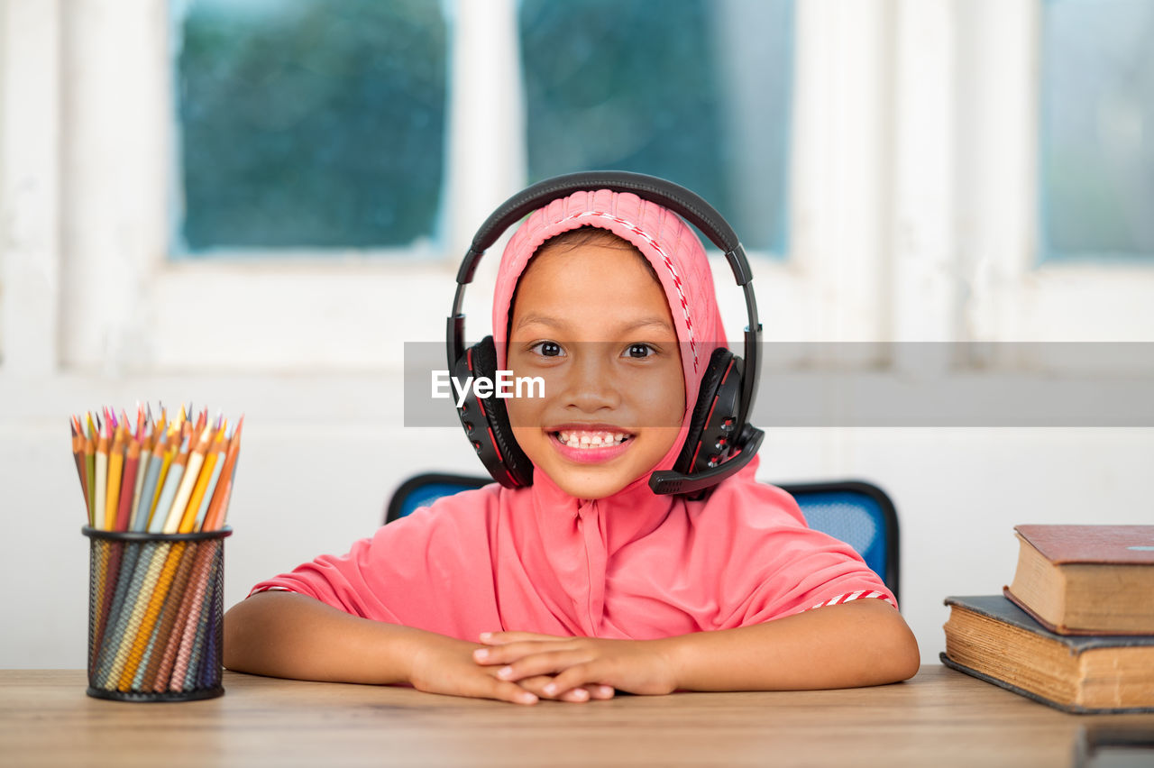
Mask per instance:
[[[487,336],[465,351],[457,361],[454,375],[458,381],[466,381],[470,376],[496,381],[496,347],[493,337]],[[533,484],[533,462],[514,439],[509,412],[500,398],[478,398],[470,387],[464,407],[458,409],[457,415],[481,464],[494,480],[505,488]]]

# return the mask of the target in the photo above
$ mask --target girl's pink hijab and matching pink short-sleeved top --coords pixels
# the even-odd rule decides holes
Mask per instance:
[[[657,271],[682,345],[687,407],[725,345],[700,242],[676,214],[595,190],[534,212],[505,248],[493,307],[499,368],[514,288],[549,238],[579,226],[624,238]],[[657,496],[649,473],[601,499],[578,499],[538,469],[529,488],[496,483],[442,498],[342,556],[322,555],[253,593],[288,589],[350,613],[475,641],[481,632],[645,640],[758,624],[892,593],[848,545],[807,527],[790,496],[754,479],[758,460],[705,499]]]

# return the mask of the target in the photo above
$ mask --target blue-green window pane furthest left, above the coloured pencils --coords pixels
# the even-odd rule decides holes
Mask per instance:
[[[437,0],[173,0],[174,250],[410,246],[436,235]]]

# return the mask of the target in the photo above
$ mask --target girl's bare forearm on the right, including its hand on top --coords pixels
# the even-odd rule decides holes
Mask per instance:
[[[555,675],[549,693],[587,684],[632,693],[856,687],[905,680],[920,662],[909,627],[881,600],[661,640],[497,632],[485,642],[479,664],[499,665],[508,680]]]

